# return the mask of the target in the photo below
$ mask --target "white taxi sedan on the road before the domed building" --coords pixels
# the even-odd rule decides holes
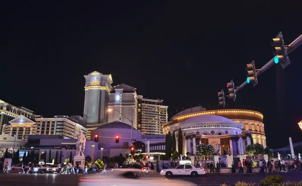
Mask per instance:
[[[175,168],[163,169],[161,171],[161,174],[166,175],[167,177],[170,177],[172,175],[198,176],[198,175],[205,174],[205,171],[203,168],[196,168],[194,165],[181,164],[176,166]]]

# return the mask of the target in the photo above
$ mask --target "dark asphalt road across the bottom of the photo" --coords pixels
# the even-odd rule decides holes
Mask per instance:
[[[302,172],[286,172],[286,173],[273,173],[279,174],[285,177],[285,181],[301,181]],[[140,175],[140,174],[139,174]],[[246,182],[259,182],[261,179],[264,179],[265,176],[271,174],[262,174],[262,173],[252,173],[252,174],[205,174],[198,177],[190,176],[177,176],[169,178],[171,181],[187,180],[197,185],[220,185],[221,183],[227,183],[234,185],[237,181],[246,181]],[[116,175],[114,174],[88,174],[88,175],[61,175],[61,174],[18,174],[18,173],[0,173],[0,185],[104,185],[102,180],[112,179]],[[82,179],[88,181],[80,181]],[[129,179],[129,178],[127,178]],[[125,179],[127,181],[127,179]],[[163,183],[167,180],[166,177],[158,175],[156,172],[152,173],[143,173],[140,175],[140,179],[129,179],[127,182],[137,182],[141,183],[141,179],[152,179],[158,180]],[[144,180],[142,180],[144,181]],[[169,181],[169,180],[168,180]],[[86,183],[86,184],[83,184]],[[168,183],[168,182],[167,182]],[[125,185],[125,182],[120,182],[119,184],[112,185]],[[134,184],[133,184],[134,185]],[[155,184],[156,185],[156,184]],[[186,184],[187,185],[187,184]],[[168,186],[168,184],[167,184]]]

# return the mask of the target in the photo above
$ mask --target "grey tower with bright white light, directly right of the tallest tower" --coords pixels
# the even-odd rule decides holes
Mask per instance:
[[[109,120],[120,121],[137,129],[137,94],[136,88],[120,84],[114,86],[109,95]],[[128,119],[127,119],[128,118]]]

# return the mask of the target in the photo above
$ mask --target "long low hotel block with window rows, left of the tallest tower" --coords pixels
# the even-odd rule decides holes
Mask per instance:
[[[36,118],[35,135],[61,135],[67,138],[76,138],[74,135],[82,131],[86,136],[88,129],[79,124],[79,121],[68,116],[54,116],[53,118]]]

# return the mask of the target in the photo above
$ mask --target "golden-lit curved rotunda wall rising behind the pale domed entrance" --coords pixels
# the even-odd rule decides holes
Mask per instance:
[[[179,112],[171,118],[171,121],[164,124],[164,133],[168,133],[168,126],[182,123],[183,121],[203,115],[216,115],[224,118],[228,118],[236,123],[243,124],[242,130],[249,130],[252,136],[253,143],[260,143],[266,147],[266,137],[264,133],[263,114],[240,109],[228,109],[228,110],[211,110],[205,111],[204,108],[194,107],[185,111]]]

